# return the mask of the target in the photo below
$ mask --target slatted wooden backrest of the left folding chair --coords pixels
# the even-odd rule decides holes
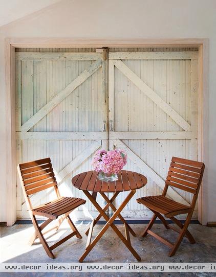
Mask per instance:
[[[24,194],[29,195],[54,187],[59,192],[50,158],[38,159],[18,165],[18,172]]]

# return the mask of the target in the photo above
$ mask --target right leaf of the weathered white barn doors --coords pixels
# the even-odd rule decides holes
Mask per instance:
[[[162,193],[172,156],[198,158],[198,52],[111,50],[109,122],[109,148],[124,149],[127,169],[148,178],[122,213],[149,218],[152,212],[136,198]],[[168,195],[191,200],[178,189],[169,188]]]

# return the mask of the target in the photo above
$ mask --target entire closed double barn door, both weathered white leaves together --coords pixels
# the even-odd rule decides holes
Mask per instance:
[[[136,198],[161,194],[172,156],[198,157],[198,51],[182,50],[110,49],[109,61],[103,49],[18,50],[17,163],[51,157],[62,195],[85,198],[72,176],[92,169],[97,149],[124,149],[126,168],[148,183],[122,213],[149,218]],[[178,189],[168,195],[191,200]],[[50,190],[32,200],[40,205],[52,197]],[[81,219],[96,214],[89,201],[76,212]],[[19,182],[17,218],[29,218]]]

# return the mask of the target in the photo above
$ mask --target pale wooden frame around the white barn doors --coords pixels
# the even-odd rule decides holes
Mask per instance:
[[[7,225],[16,221],[16,132],[15,132],[15,49],[16,48],[199,48],[199,112],[198,159],[208,161],[208,39],[155,38],[155,39],[73,39],[73,38],[6,38],[6,172],[7,172]],[[205,176],[198,202],[198,219],[207,224],[207,197]]]

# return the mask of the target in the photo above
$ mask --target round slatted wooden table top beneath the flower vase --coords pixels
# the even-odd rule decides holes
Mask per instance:
[[[80,173],[72,178],[72,184],[79,190],[92,192],[122,192],[137,190],[145,186],[147,179],[140,173],[121,170],[118,180],[104,182],[98,179],[96,171]]]

